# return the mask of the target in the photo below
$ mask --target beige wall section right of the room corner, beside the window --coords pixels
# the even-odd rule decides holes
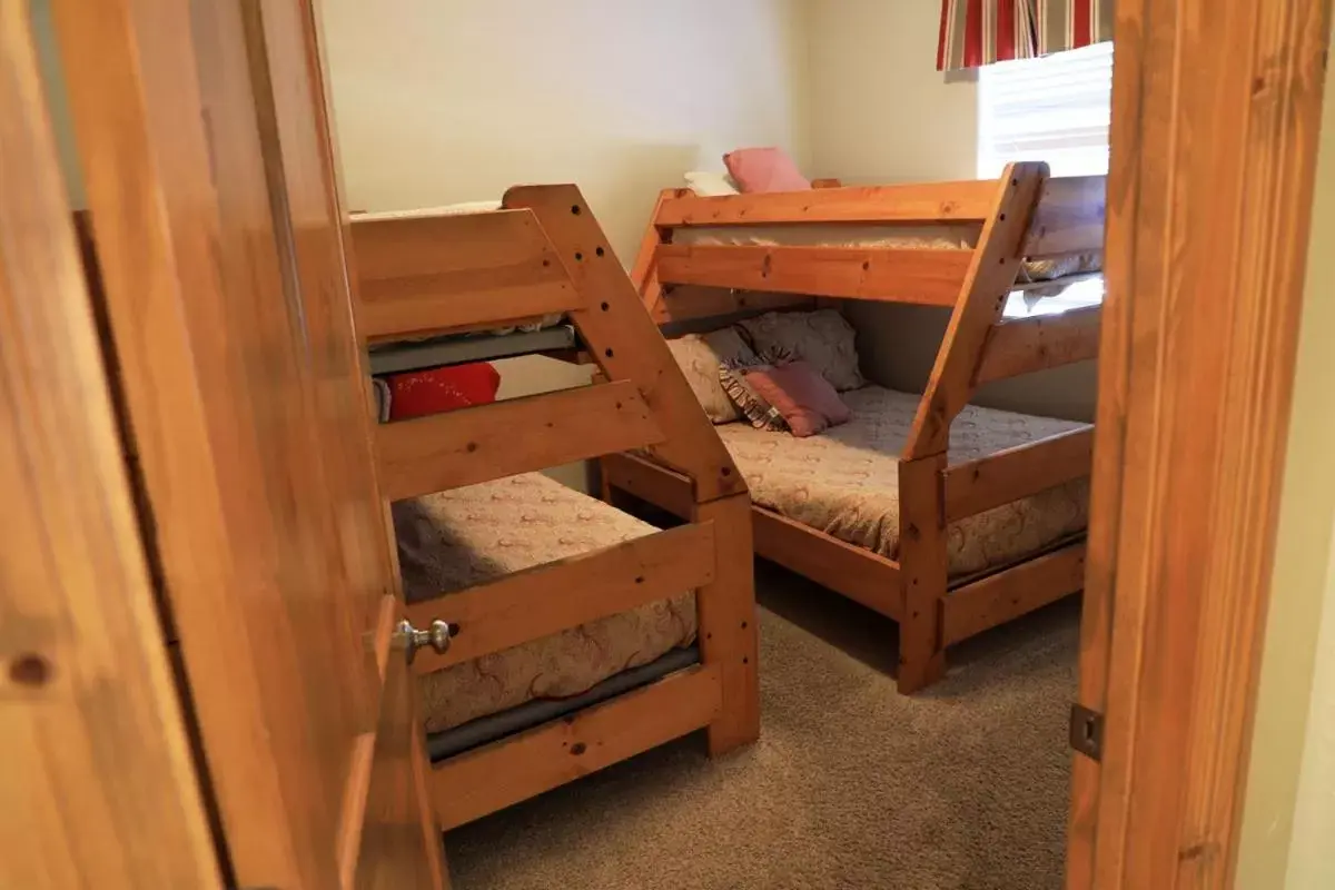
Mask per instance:
[[[812,165],[848,183],[973,179],[979,85],[972,72],[936,71],[939,3],[813,0],[810,27]],[[921,391],[949,314],[908,306],[849,304],[865,372]],[[1093,419],[1092,362],[984,387],[980,404],[1076,420]]]

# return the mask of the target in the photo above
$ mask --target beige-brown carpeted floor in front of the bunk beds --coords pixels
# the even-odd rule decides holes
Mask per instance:
[[[1061,886],[1079,599],[896,694],[894,624],[762,566],[760,743],[692,737],[446,838],[458,890]]]

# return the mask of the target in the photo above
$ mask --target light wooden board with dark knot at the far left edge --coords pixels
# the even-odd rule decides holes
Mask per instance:
[[[28,4],[0,4],[0,886],[222,887]]]

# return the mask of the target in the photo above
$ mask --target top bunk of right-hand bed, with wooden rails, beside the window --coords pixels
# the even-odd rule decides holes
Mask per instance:
[[[1049,177],[1045,164],[1024,163],[995,180],[817,180],[809,191],[708,197],[668,189],[634,278],[659,323],[790,302],[782,295],[955,307],[980,272],[997,279],[977,268],[987,250],[1013,267],[1005,318],[1096,306],[1105,179]],[[1065,302],[1041,303],[1077,283]]]

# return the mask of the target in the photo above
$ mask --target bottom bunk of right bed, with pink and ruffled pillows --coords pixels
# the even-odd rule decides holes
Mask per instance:
[[[770,312],[672,343],[753,502],[756,552],[900,622],[900,687],[944,650],[1076,592],[1093,427],[965,406],[906,459],[922,396],[868,384],[833,310]],[[605,458],[619,492],[689,515],[686,479]]]

